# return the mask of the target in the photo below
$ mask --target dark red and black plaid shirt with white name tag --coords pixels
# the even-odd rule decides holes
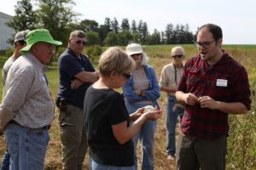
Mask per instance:
[[[241,102],[250,110],[251,99],[247,71],[227,52],[215,65],[208,65],[200,55],[187,61],[177,90],[195,94],[197,97],[210,96],[223,102]],[[219,85],[227,80],[227,85]],[[217,83],[218,82],[218,83]],[[228,114],[218,110],[187,105],[181,125],[182,132],[197,138],[216,139],[228,134]]]

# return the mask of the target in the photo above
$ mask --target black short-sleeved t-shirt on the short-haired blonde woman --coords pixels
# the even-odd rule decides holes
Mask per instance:
[[[134,165],[131,139],[119,144],[113,135],[112,125],[127,122],[130,116],[123,96],[110,88],[90,88],[84,97],[84,116],[90,156],[104,165],[130,167]]]

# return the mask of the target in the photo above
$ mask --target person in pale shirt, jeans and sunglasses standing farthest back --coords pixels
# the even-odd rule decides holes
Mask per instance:
[[[172,63],[166,65],[160,77],[160,90],[167,93],[166,99],[166,153],[167,159],[175,160],[175,132],[177,125],[177,116],[179,122],[183,117],[183,105],[178,105],[175,98],[177,83],[183,71],[183,59],[185,58],[182,47],[172,48]]]

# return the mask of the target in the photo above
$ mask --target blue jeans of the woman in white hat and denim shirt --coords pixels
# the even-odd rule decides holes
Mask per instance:
[[[127,111],[129,114],[137,111],[138,108],[142,108],[148,104],[136,104],[131,105],[125,102]],[[133,122],[131,122],[132,124]],[[156,121],[146,121],[143,123],[141,129],[132,138],[134,144],[134,158],[135,167],[137,169],[137,142],[140,139],[142,148],[142,169],[153,170],[154,169],[154,132],[156,130]]]

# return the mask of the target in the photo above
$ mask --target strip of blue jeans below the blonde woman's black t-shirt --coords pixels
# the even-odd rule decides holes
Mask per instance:
[[[94,161],[91,157],[89,158],[89,169],[90,170],[135,170],[134,166],[131,167],[117,167],[111,165],[103,165]]]

